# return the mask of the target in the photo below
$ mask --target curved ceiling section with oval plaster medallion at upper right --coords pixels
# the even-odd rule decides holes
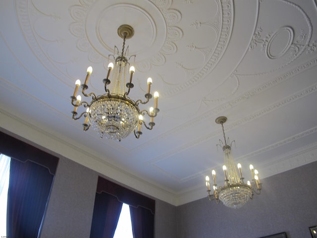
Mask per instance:
[[[262,14],[267,8],[271,9],[269,16]],[[279,13],[286,11],[289,14],[280,18]],[[297,4],[288,0],[260,1],[257,27],[238,71],[241,75],[261,75],[289,65],[312,45],[312,31],[310,18]],[[251,60],[257,58],[261,65]]]

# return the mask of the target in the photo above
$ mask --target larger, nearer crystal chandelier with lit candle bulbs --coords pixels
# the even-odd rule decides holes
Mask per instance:
[[[130,63],[126,56],[128,47],[125,50],[125,41],[134,35],[134,30],[129,25],[121,25],[117,33],[123,39],[122,52],[120,55],[118,49],[116,47],[114,48],[115,52],[114,55],[112,55],[114,62],[108,64],[108,72],[106,78],[103,80],[106,93],[98,96],[92,92],[89,94],[86,93],[88,89],[88,79],[93,71],[93,68],[89,66],[85,83],[80,85],[80,80],[75,82],[76,86],[74,94],[71,96],[71,104],[74,106],[72,119],[77,120],[84,117],[83,129],[85,131],[92,125],[101,138],[106,137],[120,141],[132,131],[134,131],[135,137],[139,138],[142,134],[142,124],[149,130],[153,129],[155,125],[153,119],[159,113],[159,93],[154,93],[154,108],[151,107],[149,111],[141,111],[139,104],[147,104],[152,98],[152,94],[150,93],[152,84],[151,78],[148,78],[147,81],[148,87],[147,93],[145,94],[145,101],[141,99],[134,101],[128,97],[130,89],[134,86],[132,76],[135,68],[131,66],[128,73]],[[113,73],[110,80],[109,76],[111,71],[113,71]],[[127,80],[127,76],[129,76],[129,80]],[[91,97],[91,102],[81,101],[81,95],[76,96],[79,86],[82,88],[82,95]],[[77,108],[80,106],[83,106],[85,110],[78,115]],[[148,124],[143,120],[143,116],[145,115],[150,117]]]

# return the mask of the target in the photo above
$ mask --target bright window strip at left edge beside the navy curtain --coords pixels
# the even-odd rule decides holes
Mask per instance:
[[[0,237],[6,237],[6,202],[9,188],[10,157],[0,154]]]

